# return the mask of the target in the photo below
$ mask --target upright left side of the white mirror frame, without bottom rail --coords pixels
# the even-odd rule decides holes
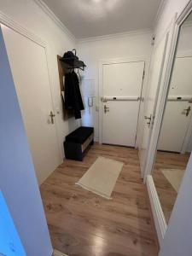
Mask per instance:
[[[166,99],[169,92],[170,81],[172,79],[172,69],[175,61],[175,55],[177,51],[177,42],[179,38],[180,27],[183,22],[192,12],[192,0],[183,9],[181,15],[177,17],[177,14],[172,19],[172,25],[170,28],[170,42],[167,46],[166,59],[164,62],[164,70],[161,74],[160,82],[160,95],[156,105],[156,111],[154,119],[154,127],[151,134],[151,139],[148,147],[148,157],[145,166],[144,182],[147,181],[148,175],[151,175],[154,169],[154,160],[156,156],[157,144],[160,136],[160,128],[163,122],[163,117],[166,109]]]

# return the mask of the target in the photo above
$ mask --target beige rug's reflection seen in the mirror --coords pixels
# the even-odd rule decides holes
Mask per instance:
[[[178,192],[182,183],[184,170],[179,169],[160,169],[166,179],[172,184],[172,187]]]

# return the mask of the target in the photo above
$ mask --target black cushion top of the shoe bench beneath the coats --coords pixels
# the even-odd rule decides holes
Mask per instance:
[[[85,142],[85,140],[88,137],[90,137],[90,135],[93,133],[93,131],[94,131],[93,127],[81,126],[77,130],[75,130],[67,135],[66,142],[83,144]]]

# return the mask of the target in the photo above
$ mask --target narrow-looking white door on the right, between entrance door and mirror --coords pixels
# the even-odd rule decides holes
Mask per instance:
[[[139,161],[141,172],[143,175],[145,162],[147,158],[148,143],[150,141],[151,131],[153,127],[154,110],[156,108],[157,95],[159,93],[160,78],[162,73],[162,66],[165,60],[166,45],[168,36],[160,40],[160,43],[154,46],[154,53],[152,63],[150,65],[148,92],[144,97],[144,116],[143,119],[143,136],[141,144],[139,145]]]

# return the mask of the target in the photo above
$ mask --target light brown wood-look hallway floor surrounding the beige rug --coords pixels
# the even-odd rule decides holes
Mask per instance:
[[[98,156],[124,162],[106,200],[75,186]],[[155,256],[158,247],[137,150],[95,144],[83,162],[65,160],[42,184],[53,246],[69,256]]]

